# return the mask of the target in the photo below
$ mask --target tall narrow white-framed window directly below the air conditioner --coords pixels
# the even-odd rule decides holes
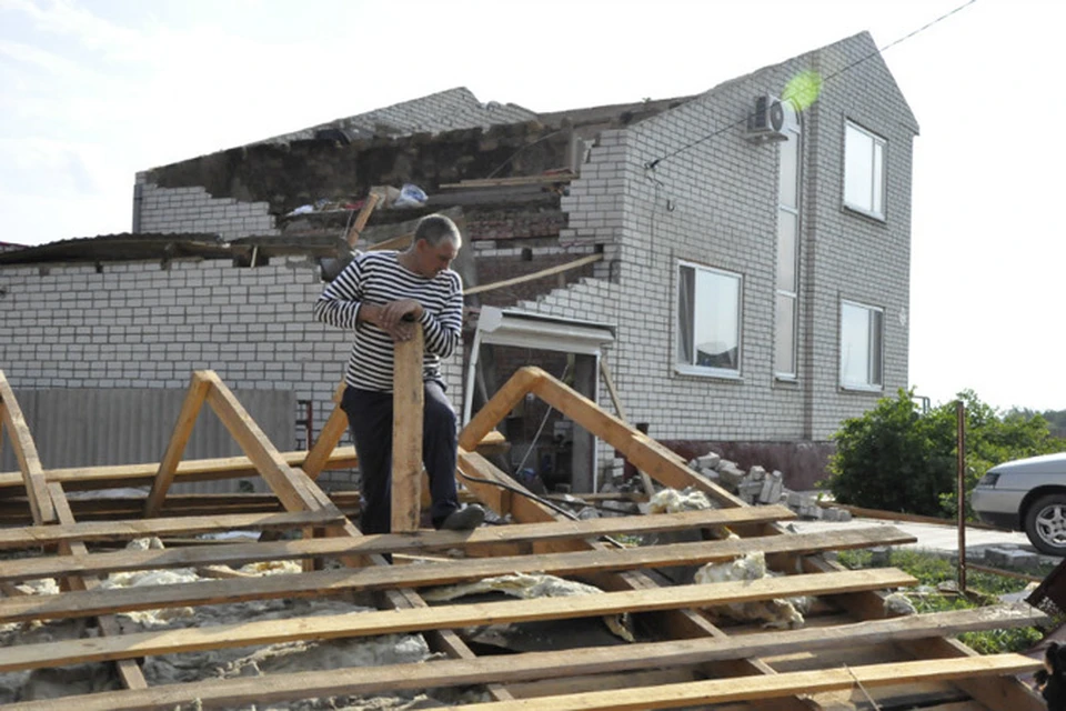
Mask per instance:
[[[794,112],[792,102],[782,102]],[[787,140],[778,143],[777,276],[774,300],[774,375],[796,379],[800,297],[800,121],[786,121]]]

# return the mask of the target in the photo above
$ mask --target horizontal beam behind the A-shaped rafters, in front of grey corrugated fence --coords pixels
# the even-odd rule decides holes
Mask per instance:
[[[290,467],[304,465],[306,451],[282,452]],[[328,454],[323,469],[352,469],[359,464],[354,447],[338,447]],[[48,481],[58,481],[67,491],[84,489],[112,489],[121,487],[151,485],[159,471],[159,462],[142,464],[111,464],[107,467],[70,467],[46,469]],[[248,457],[220,457],[197,459],[178,464],[175,482],[218,481],[258,475],[255,465]],[[0,497],[23,494],[20,472],[0,473]],[[163,507],[167,508],[165,505]]]

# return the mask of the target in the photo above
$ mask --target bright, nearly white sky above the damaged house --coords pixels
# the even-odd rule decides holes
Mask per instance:
[[[922,129],[911,383],[1066,409],[1060,0],[0,0],[0,241],[127,232],[139,170],[435,91],[687,96],[956,8],[884,53]]]

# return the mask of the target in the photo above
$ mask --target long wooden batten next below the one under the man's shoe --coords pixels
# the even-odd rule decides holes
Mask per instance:
[[[425,588],[512,573],[543,572],[565,577],[642,568],[701,565],[733,560],[756,551],[814,553],[914,541],[902,531],[886,529],[887,527],[875,527],[865,530],[774,535],[762,539],[730,539],[603,551],[467,559],[425,565],[316,571],[299,577],[270,575],[253,580],[217,580],[17,598],[0,600],[0,623],[242,600],[311,598],[345,591]]]

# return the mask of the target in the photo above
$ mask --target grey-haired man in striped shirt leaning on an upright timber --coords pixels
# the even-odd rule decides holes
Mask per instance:
[[[476,504],[459,507],[456,418],[441,378],[441,358],[451,356],[462,338],[463,286],[449,268],[460,247],[454,222],[428,216],[410,248],[359,254],[314,304],[318,320],[355,333],[341,408],[359,454],[363,533],[386,533],[391,527],[394,343],[410,340],[415,322],[425,337],[422,461],[430,475],[433,525],[466,530],[484,519]]]

